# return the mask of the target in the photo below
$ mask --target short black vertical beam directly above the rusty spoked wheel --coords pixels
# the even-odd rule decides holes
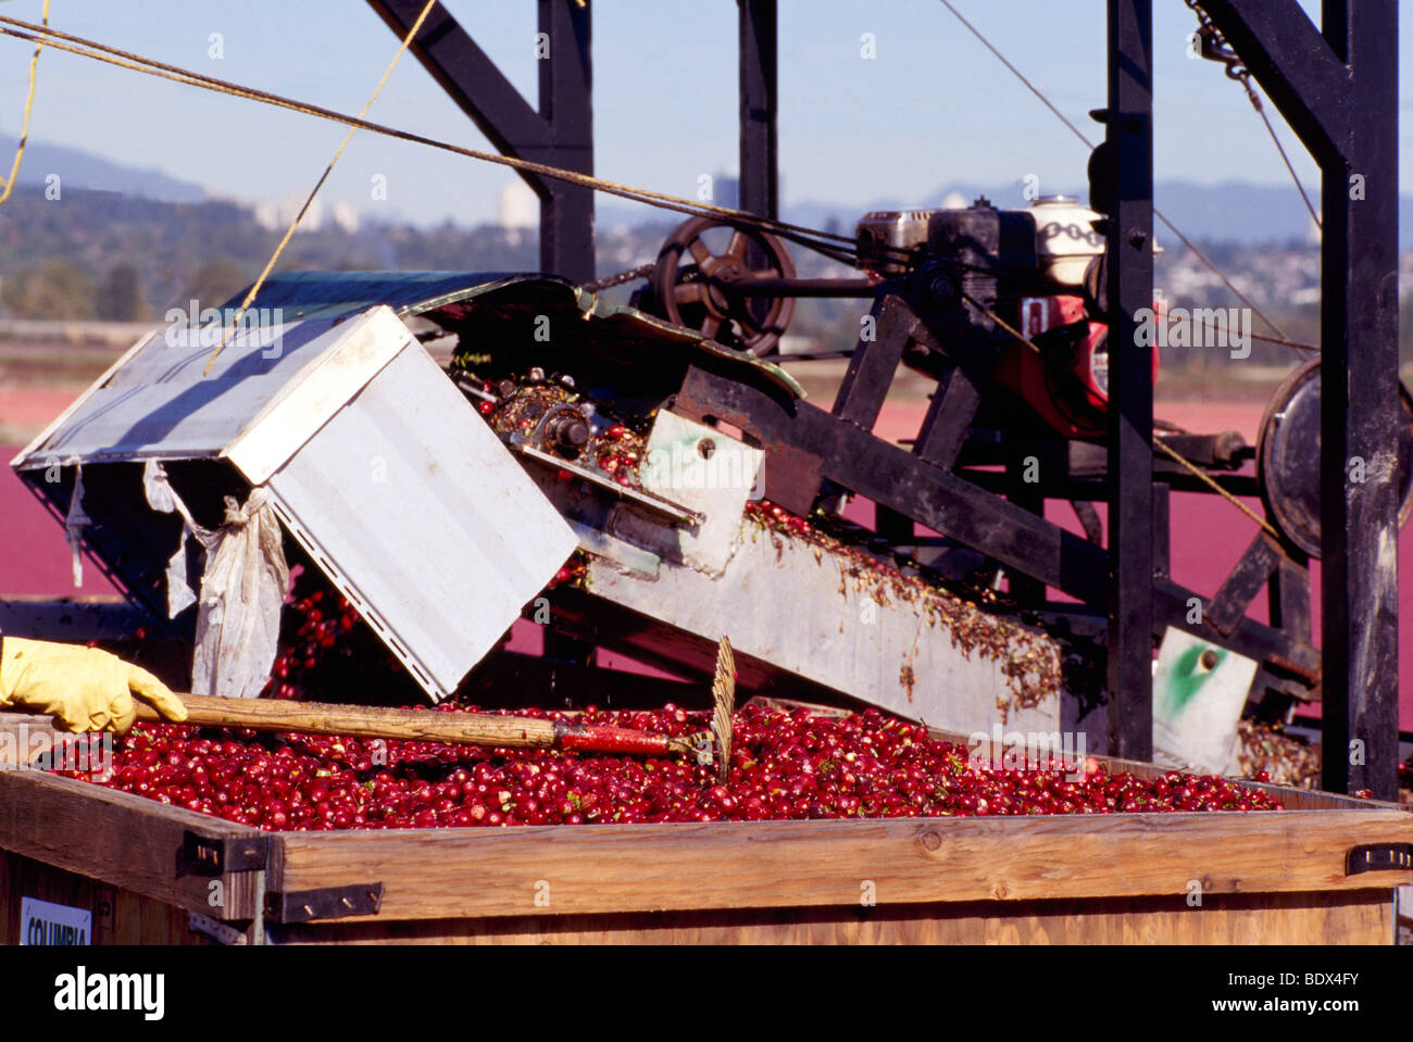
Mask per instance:
[[[777,0],[736,3],[740,8],[740,209],[779,217]]]

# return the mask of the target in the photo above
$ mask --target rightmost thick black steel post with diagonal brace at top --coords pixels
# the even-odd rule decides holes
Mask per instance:
[[[1323,174],[1323,785],[1395,799],[1397,3],[1204,7]]]

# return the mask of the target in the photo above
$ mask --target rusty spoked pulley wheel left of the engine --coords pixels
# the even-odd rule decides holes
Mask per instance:
[[[668,322],[699,329],[712,340],[769,354],[794,313],[791,297],[747,297],[732,282],[794,278],[784,243],[769,232],[691,217],[668,236],[657,254],[653,295]]]

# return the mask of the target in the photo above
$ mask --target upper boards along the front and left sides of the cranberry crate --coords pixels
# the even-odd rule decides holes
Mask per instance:
[[[1161,768],[1109,761],[1152,774]],[[1267,788],[1276,813],[1067,815],[509,830],[281,833],[271,891],[383,882],[379,922],[725,908],[1392,890],[1413,873],[1344,877],[1359,843],[1413,842],[1413,815]],[[1323,808],[1323,809],[1313,809]],[[0,849],[212,914],[209,880],[178,875],[191,829],[256,830],[38,771],[0,771]],[[259,873],[227,873],[226,919],[254,916]],[[543,884],[543,885],[541,885]],[[3,894],[3,891],[0,891]],[[548,899],[548,906],[541,908]]]

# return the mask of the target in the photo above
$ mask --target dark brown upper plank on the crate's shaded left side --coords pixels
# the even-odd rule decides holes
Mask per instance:
[[[260,871],[179,875],[182,837],[259,836],[211,815],[42,771],[0,771],[0,850],[219,919],[252,919]],[[212,882],[220,882],[220,890]],[[213,898],[218,905],[212,904]]]

